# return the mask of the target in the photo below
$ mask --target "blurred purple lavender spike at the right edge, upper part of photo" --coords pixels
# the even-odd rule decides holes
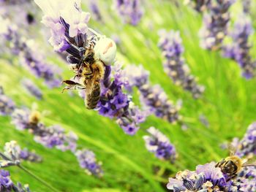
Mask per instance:
[[[231,37],[233,44],[223,47],[224,55],[227,58],[235,60],[241,69],[242,75],[246,79],[255,76],[256,61],[252,61],[250,49],[252,45],[249,43],[249,37],[253,33],[252,23],[245,15],[241,16],[235,23]]]

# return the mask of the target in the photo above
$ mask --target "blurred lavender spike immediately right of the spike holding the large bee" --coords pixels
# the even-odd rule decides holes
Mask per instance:
[[[140,100],[142,104],[147,108],[145,114],[154,113],[158,118],[163,118],[170,123],[175,123],[180,120],[181,116],[178,115],[180,106],[173,104],[167,98],[167,94],[160,85],[151,86],[148,82],[149,72],[143,69],[143,66],[129,65],[124,69],[124,86],[128,91],[132,90],[132,87],[137,87],[140,91]],[[129,82],[127,81],[129,80]]]

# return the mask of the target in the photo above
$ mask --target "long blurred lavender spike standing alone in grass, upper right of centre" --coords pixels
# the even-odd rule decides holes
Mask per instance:
[[[196,78],[190,74],[189,66],[185,64],[182,57],[184,47],[178,31],[159,31],[159,47],[162,55],[166,58],[164,65],[165,72],[176,85],[181,85],[184,90],[192,93],[197,99],[204,91],[204,87],[197,85]]]

